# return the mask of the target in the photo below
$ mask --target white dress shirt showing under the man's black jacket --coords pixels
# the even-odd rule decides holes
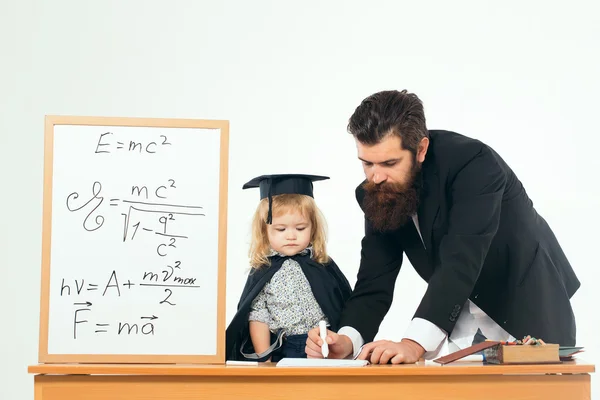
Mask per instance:
[[[421,236],[419,220],[416,215],[413,215],[413,222]],[[423,241],[422,237],[421,241]],[[425,246],[424,243],[423,246]],[[478,329],[490,340],[515,340],[469,299],[462,308],[450,337],[432,322],[423,318],[413,318],[403,338],[419,343],[425,349],[423,358],[433,360],[471,346]],[[346,335],[352,340],[353,356],[356,357],[364,344],[361,334],[351,326],[340,328],[338,334]]]

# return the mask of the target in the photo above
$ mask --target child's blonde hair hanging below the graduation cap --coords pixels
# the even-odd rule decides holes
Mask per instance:
[[[318,263],[324,264],[329,261],[326,251],[326,222],[323,214],[317,207],[315,200],[310,196],[302,194],[280,194],[272,198],[273,218],[284,215],[290,211],[300,212],[311,224],[310,243],[312,245],[312,258]],[[269,237],[267,235],[267,213],[269,211],[269,199],[260,201],[254,218],[252,220],[252,242],[250,244],[250,265],[252,268],[260,268],[270,265],[268,256],[271,251]]]

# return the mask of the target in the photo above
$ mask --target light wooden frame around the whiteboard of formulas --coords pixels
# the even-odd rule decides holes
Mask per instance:
[[[48,354],[50,306],[50,251],[52,232],[52,179],[55,125],[128,126],[159,128],[220,129],[219,233],[217,273],[217,351],[214,355],[153,354]],[[229,167],[229,121],[200,119],[164,119],[133,117],[85,117],[46,115],[44,128],[44,200],[42,219],[42,280],[40,299],[40,363],[225,363],[225,279],[227,256],[227,189]]]

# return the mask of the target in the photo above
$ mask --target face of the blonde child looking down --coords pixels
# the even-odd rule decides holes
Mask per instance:
[[[311,232],[310,221],[301,213],[293,211],[273,216],[272,224],[267,225],[271,248],[286,256],[298,254],[308,247]]]

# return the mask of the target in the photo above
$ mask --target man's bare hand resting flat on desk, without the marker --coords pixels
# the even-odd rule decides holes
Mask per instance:
[[[425,349],[417,342],[402,339],[401,342],[378,340],[363,346],[358,359],[369,360],[371,364],[413,364],[425,354]]]

